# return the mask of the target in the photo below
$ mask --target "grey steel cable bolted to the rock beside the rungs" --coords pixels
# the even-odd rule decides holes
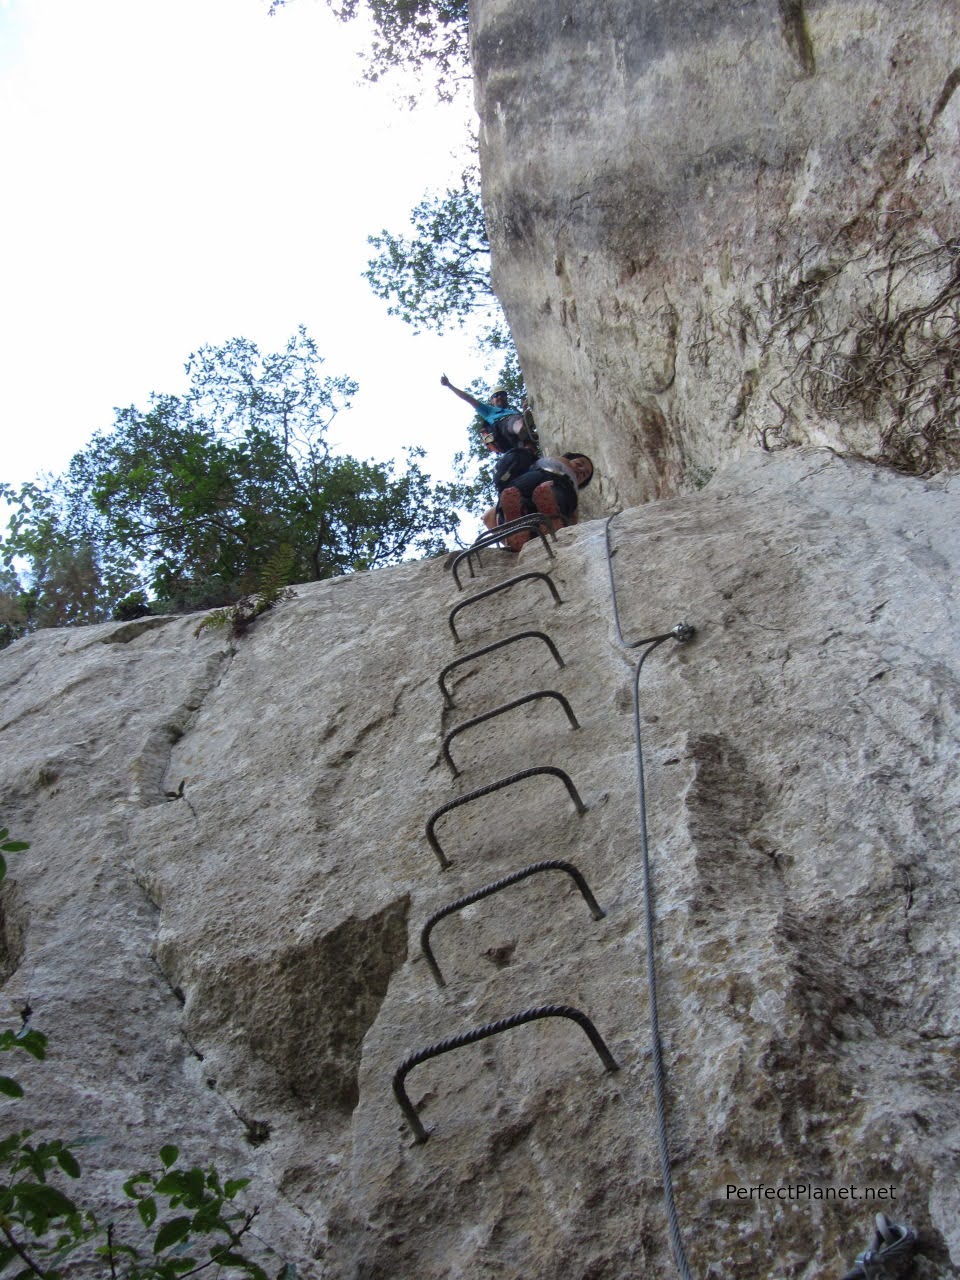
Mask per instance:
[[[617,625],[617,636],[626,649],[636,649],[648,645],[640,655],[634,672],[634,741],[636,744],[636,788],[640,828],[640,855],[644,873],[644,925],[646,933],[646,987],[650,1004],[650,1048],[653,1056],[653,1092],[657,1106],[657,1146],[660,1156],[660,1176],[663,1180],[663,1208],[667,1215],[667,1228],[669,1231],[671,1248],[673,1249],[673,1262],[682,1280],[692,1280],[690,1265],[684,1251],[684,1239],[680,1233],[680,1219],[677,1206],[673,1199],[673,1176],[669,1162],[669,1140],[667,1134],[667,1088],[666,1070],[663,1066],[663,1048],[660,1046],[660,1024],[657,1007],[657,963],[654,955],[654,915],[653,915],[653,877],[650,873],[650,850],[646,838],[646,788],[644,786],[644,753],[640,733],[640,672],[644,662],[666,640],[689,640],[694,635],[694,628],[687,623],[678,623],[672,631],[659,636],[646,636],[643,640],[628,643],[621,628],[620,608],[617,605],[617,584],[613,577],[613,550],[611,548],[611,525],[616,516],[611,516],[605,525],[607,538],[607,567],[611,577],[611,595],[613,599],[613,618]]]

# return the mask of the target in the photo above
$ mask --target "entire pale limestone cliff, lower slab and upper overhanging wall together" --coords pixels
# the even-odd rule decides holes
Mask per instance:
[[[960,1275],[959,28],[474,0],[498,288],[586,513],[627,509],[463,590],[430,561],[237,641],[0,654],[4,1001],[51,1043],[3,1110],[83,1139],[100,1204],[173,1139],[250,1174],[301,1280],[667,1280],[652,959],[691,1274],[840,1276],[881,1208]],[[637,686],[648,893],[631,645],[680,622]],[[444,705],[520,632],[556,657],[468,658]],[[440,986],[426,923],[543,860],[603,914],[509,883],[438,919]],[[618,1069],[543,1018],[419,1061],[404,1116],[410,1055],[543,1006]]]

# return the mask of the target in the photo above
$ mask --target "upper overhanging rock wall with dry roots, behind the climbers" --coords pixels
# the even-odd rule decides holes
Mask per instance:
[[[758,445],[956,466],[955,0],[471,17],[494,283],[591,509]]]

